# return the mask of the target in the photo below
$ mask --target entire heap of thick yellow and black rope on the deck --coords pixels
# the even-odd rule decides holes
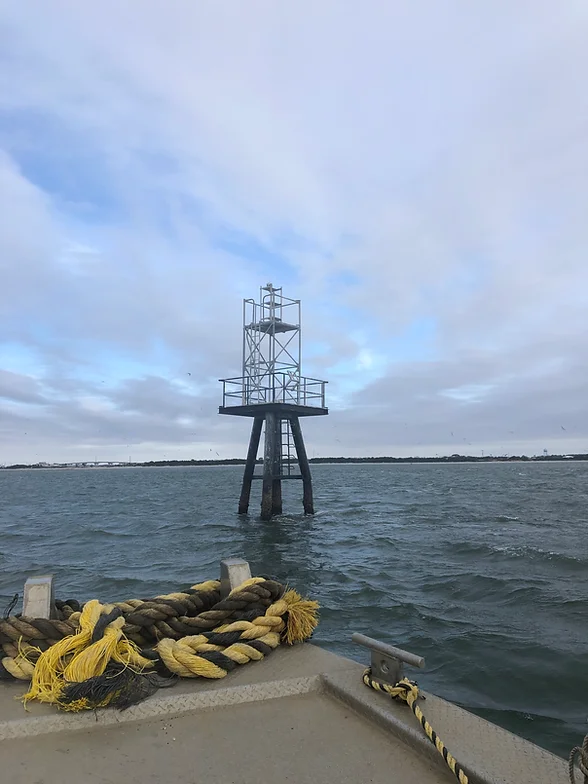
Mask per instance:
[[[316,627],[318,604],[274,580],[251,578],[222,600],[219,589],[210,581],[153,600],[94,599],[81,610],[70,601],[67,620],[0,621],[0,677],[31,681],[25,703],[125,708],[164,685],[160,676],[222,678]]]

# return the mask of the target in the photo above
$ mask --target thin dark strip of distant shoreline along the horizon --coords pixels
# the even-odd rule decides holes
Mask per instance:
[[[469,455],[450,455],[447,457],[312,457],[309,462],[314,465],[345,465],[361,463],[571,463],[588,460],[588,454],[576,455],[542,455],[527,457],[526,455],[513,455],[512,457],[472,457]],[[262,463],[261,458],[258,464]],[[96,468],[163,468],[163,467],[191,467],[191,466],[243,466],[245,460],[231,458],[226,460],[151,460],[142,463],[123,463],[116,461],[88,461],[79,463],[15,463],[0,466],[0,471],[19,469],[96,469]]]

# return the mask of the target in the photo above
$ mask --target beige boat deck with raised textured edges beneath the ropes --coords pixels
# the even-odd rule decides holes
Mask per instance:
[[[124,712],[25,712],[0,685],[0,763],[11,784],[357,782],[455,777],[406,705],[363,667],[311,644],[280,648],[220,681],[182,680]],[[470,781],[566,784],[564,760],[444,700],[423,711]]]

